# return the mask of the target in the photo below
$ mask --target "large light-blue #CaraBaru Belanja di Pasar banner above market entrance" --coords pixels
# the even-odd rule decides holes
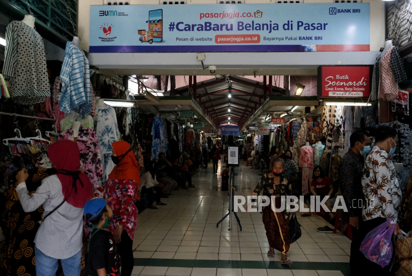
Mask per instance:
[[[369,51],[369,3],[92,5],[89,51]]]

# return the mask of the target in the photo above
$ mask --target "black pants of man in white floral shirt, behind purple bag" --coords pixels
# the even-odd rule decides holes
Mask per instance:
[[[358,239],[359,248],[360,248],[360,244],[362,243],[366,235],[370,231],[372,231],[374,228],[384,223],[385,221],[386,221],[386,218],[383,218],[383,217],[377,217],[377,218],[362,221],[359,227],[359,233],[360,233],[359,239]],[[353,235],[353,231],[352,231],[352,235]],[[352,259],[352,247],[350,248],[350,259]],[[358,266],[353,268],[353,270],[352,270],[352,264],[350,263],[350,269],[351,269],[350,275],[367,275],[367,276],[394,275],[394,274],[388,274],[385,270],[382,269],[380,265],[375,264],[374,262],[366,259],[366,257],[363,255],[362,252],[360,252],[359,260],[356,260],[356,263],[358,264]]]

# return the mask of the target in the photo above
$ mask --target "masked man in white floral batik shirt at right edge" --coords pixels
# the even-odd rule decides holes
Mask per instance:
[[[391,223],[395,224],[394,235],[402,234],[398,224],[402,192],[396,178],[395,166],[390,158],[396,150],[398,132],[391,127],[378,127],[375,131],[375,141],[375,146],[365,160],[362,174],[365,200],[362,209],[361,240],[389,219],[393,219]],[[389,275],[380,265],[364,260],[361,266],[368,275]]]

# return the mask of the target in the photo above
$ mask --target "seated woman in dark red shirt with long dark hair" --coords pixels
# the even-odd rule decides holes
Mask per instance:
[[[321,167],[315,167],[312,174],[312,183],[310,184],[310,192],[305,196],[305,203],[310,206],[310,196],[320,196],[322,201],[325,196],[331,196],[333,194],[333,185],[329,177],[325,176]],[[316,198],[315,198],[316,199]],[[310,216],[311,212],[303,213],[302,216]]]

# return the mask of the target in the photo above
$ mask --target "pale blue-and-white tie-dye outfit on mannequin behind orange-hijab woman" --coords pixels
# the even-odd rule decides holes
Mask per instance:
[[[112,161],[112,143],[120,140],[119,126],[117,124],[116,111],[113,107],[97,108],[93,117],[94,130],[99,142],[100,158],[103,166],[102,182],[106,183],[108,175],[115,167]]]

